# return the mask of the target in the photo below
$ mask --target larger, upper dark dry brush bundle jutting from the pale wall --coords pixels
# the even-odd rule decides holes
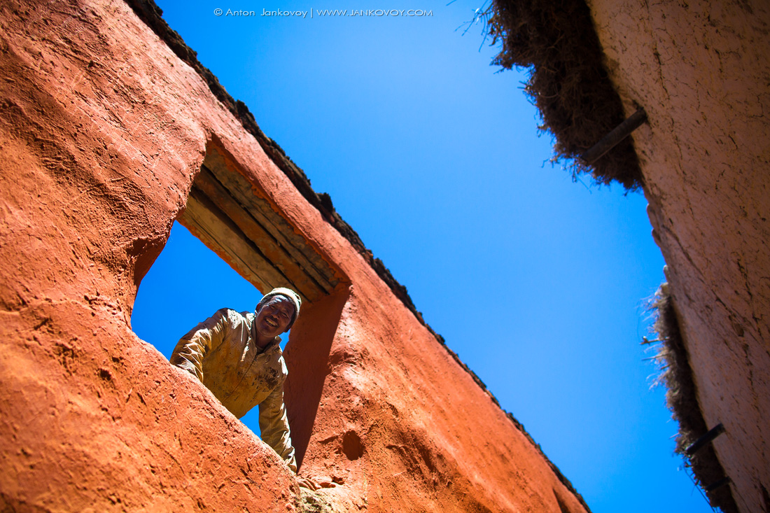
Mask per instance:
[[[642,185],[631,138],[588,165],[580,156],[625,119],[604,67],[604,52],[584,0],[493,0],[489,34],[502,49],[493,64],[531,68],[525,91],[554,136],[554,162],[567,159],[574,177],[591,173],[626,189]]]

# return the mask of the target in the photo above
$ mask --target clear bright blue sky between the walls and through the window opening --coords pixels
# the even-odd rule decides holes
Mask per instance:
[[[711,511],[673,455],[677,426],[639,344],[664,265],[644,196],[547,163],[526,71],[490,66],[480,26],[456,30],[479,5],[158,3],[594,513]],[[310,8],[432,15],[261,15]],[[200,294],[201,282],[217,287]],[[489,298],[481,330],[462,307],[477,294]],[[216,309],[258,299],[175,226],[132,324],[168,357]],[[256,415],[244,420],[256,430]]]

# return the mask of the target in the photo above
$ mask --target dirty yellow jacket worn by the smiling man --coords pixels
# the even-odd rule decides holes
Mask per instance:
[[[296,472],[289,421],[283,404],[288,371],[278,343],[264,349],[252,335],[254,314],[223,308],[179,340],[171,363],[194,374],[233,415],[259,405],[263,441]]]

